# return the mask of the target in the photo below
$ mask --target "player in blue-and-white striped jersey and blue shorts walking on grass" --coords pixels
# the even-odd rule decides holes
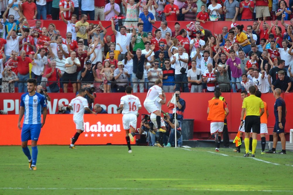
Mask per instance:
[[[21,95],[20,110],[18,118],[18,128],[21,130],[21,147],[25,156],[28,157],[28,166],[30,170],[37,170],[38,148],[37,142],[40,136],[41,128],[45,124],[47,115],[47,104],[45,98],[36,93],[37,80],[27,80],[28,92]],[[43,109],[43,122],[41,123],[41,109]],[[23,126],[21,119],[24,115]],[[28,149],[28,140],[32,140],[32,155]]]

